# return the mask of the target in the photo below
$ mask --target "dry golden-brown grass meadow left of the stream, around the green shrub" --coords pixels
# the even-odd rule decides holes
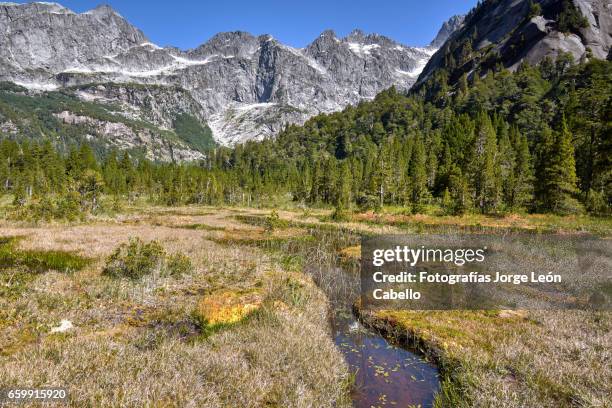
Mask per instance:
[[[224,231],[180,227],[261,233],[234,214],[155,208],[87,225],[0,227],[0,236],[24,236],[23,249],[95,259],[75,273],[41,273],[20,296],[0,299],[0,388],[66,386],[71,406],[349,405],[347,368],[314,283],[256,248],[215,243]],[[193,272],[102,276],[105,258],[130,237],[185,253]],[[299,302],[286,296],[290,281],[299,281]],[[198,311],[220,293],[241,295],[228,302],[229,314],[218,304],[206,320],[232,324],[206,333]],[[64,319],[74,328],[51,333]]]

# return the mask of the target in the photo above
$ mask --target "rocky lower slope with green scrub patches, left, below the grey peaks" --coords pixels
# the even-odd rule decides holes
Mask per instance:
[[[120,103],[113,95],[134,100]],[[99,156],[120,149],[134,158],[196,160],[216,146],[193,116],[197,106],[177,87],[107,83],[38,93],[0,82],[0,136],[47,139],[63,153],[87,143]]]

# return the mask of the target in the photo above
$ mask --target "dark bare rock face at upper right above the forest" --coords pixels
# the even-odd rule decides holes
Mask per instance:
[[[606,59],[612,46],[610,0],[487,0],[466,16],[449,41],[433,55],[419,85],[437,69],[451,82],[496,64],[514,70],[522,61],[537,64],[545,57],[570,53],[575,61]],[[573,13],[580,23],[562,25]],[[567,20],[567,19],[566,19]]]

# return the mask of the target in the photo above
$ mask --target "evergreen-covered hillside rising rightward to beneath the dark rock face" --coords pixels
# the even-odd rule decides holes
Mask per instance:
[[[420,94],[390,89],[224,162],[251,174],[251,186],[272,179],[308,203],[607,211],[611,68],[561,56],[456,87],[439,71]]]

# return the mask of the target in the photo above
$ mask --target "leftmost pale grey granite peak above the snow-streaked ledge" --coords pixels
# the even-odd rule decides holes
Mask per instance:
[[[50,85],[49,75],[146,41],[108,6],[76,14],[56,3],[0,3],[0,27],[3,74],[34,85]]]

